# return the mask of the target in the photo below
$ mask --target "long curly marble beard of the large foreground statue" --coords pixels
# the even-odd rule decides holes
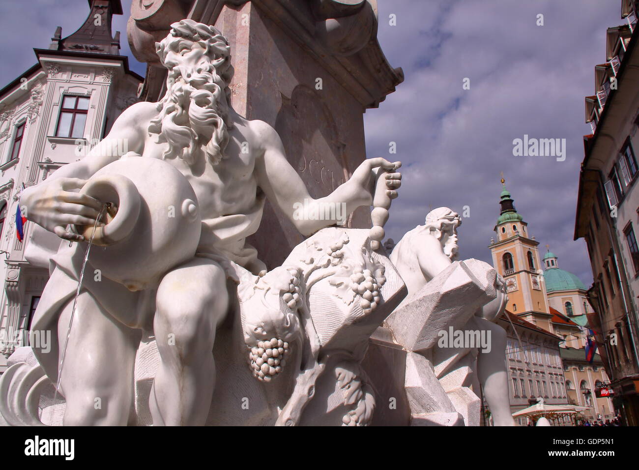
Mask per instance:
[[[217,165],[229,142],[229,106],[226,84],[210,66],[208,72],[185,79],[179,66],[169,70],[167,91],[158,102],[158,116],[148,131],[158,143],[167,143],[165,159],[178,157],[193,165],[206,157]]]

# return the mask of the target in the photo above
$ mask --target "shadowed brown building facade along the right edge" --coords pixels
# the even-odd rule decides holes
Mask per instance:
[[[639,425],[639,2],[622,1],[624,24],[606,33],[606,61],[595,66],[585,98],[584,136],[574,239],[585,239],[594,283],[589,316],[612,379],[615,406]]]

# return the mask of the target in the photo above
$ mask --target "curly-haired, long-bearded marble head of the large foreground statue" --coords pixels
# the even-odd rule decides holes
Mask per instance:
[[[215,27],[186,19],[171,24],[171,32],[155,49],[168,74],[150,134],[158,135],[158,143],[169,144],[165,158],[194,164],[204,154],[219,163],[232,127],[229,42]]]

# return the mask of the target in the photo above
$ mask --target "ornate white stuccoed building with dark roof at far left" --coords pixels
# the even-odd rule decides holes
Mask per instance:
[[[25,259],[34,224],[26,223],[22,241],[16,234],[20,191],[86,155],[137,101],[142,82],[119,54],[119,32],[111,33],[120,0],[88,3],[89,15],[75,33],[63,37],[58,27],[49,49],[34,49],[37,63],[0,90],[0,373],[28,341],[49,279],[46,267]],[[53,247],[56,238],[49,240]]]

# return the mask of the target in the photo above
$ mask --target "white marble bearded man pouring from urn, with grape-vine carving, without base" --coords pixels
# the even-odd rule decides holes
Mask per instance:
[[[154,335],[160,360],[152,388],[147,391],[153,425],[204,424],[214,389],[216,393],[218,389],[216,345],[220,340],[226,341],[216,338],[216,331],[235,302],[236,285],[242,281],[238,272],[243,272],[245,283],[240,302],[249,302],[247,286],[253,296],[255,289],[262,293],[276,292],[277,299],[281,297],[284,302],[282,310],[275,309],[269,318],[264,318],[268,317],[266,310],[252,311],[259,318],[247,319],[243,313],[244,340],[249,349],[242,352],[242,357],[244,361],[249,359],[247,373],[268,381],[282,370],[279,357],[284,359],[293,354],[288,352],[289,341],[297,338],[309,348],[295,359],[300,363],[303,360],[302,370],[311,372],[294,378],[297,385],[291,396],[293,402],[288,401],[290,394],[282,393],[286,397],[282,403],[284,416],[278,419],[284,424],[295,424],[301,419],[305,402],[313,395],[314,380],[326,366],[318,356],[318,347],[330,349],[330,344],[334,344],[335,350],[351,349],[346,362],[335,364],[337,372],[332,378],[344,388],[351,387],[350,381],[358,374],[357,359],[363,354],[346,341],[343,333],[332,331],[330,325],[318,326],[321,318],[313,317],[313,312],[296,316],[298,309],[303,308],[297,304],[300,294],[313,292],[300,290],[298,285],[323,279],[309,281],[312,273],[307,271],[324,270],[326,277],[336,276],[337,270],[343,269],[347,274],[343,281],[331,278],[331,284],[325,286],[335,292],[343,289],[339,295],[346,297],[340,301],[344,304],[340,308],[348,307],[348,315],[354,315],[351,318],[344,314],[339,325],[371,317],[374,322],[369,329],[373,331],[390,313],[384,314],[379,309],[382,318],[374,317],[375,306],[384,300],[380,284],[383,274],[378,267],[381,262],[376,258],[378,255],[371,255],[371,245],[375,249],[383,237],[381,225],[387,215],[378,211],[380,214],[374,217],[376,228],[370,237],[366,230],[357,232],[354,248],[358,250],[357,256],[362,256],[355,263],[357,269],[354,262],[341,264],[338,252],[349,237],[356,236],[344,232],[346,239],[335,240],[326,247],[319,242],[316,247],[305,246],[311,255],[316,253],[305,260],[304,266],[312,269],[305,271],[300,260],[293,260],[290,269],[281,268],[279,274],[270,278],[266,277],[268,274],[264,276],[265,265],[245,239],[258,229],[265,198],[288,215],[304,235],[339,221],[293,217],[294,204],[311,197],[286,160],[275,130],[263,121],[246,120],[231,107],[228,86],[233,68],[226,38],[215,27],[192,20],[181,20],[171,27],[171,33],[157,43],[157,54],[169,71],[164,98],[158,103],[141,102],[129,107],[104,141],[84,159],[64,166],[44,182],[22,192],[20,205],[27,208],[29,220],[65,240],[82,241],[90,237],[102,203],[112,202],[122,210],[121,213],[112,210],[106,225],[103,219],[98,223],[100,233],[96,234],[96,242],[107,247],[96,246],[92,251],[70,332],[70,314],[86,244],[69,246],[68,241],[63,242],[52,257],[50,280],[35,313],[33,329],[51,330],[58,341],[49,354],[36,349],[35,355],[47,377],[55,383],[68,339],[59,378],[60,393],[66,400],[65,425],[125,425],[130,422],[136,398],[134,371],[141,332]],[[127,141],[132,153],[125,159],[120,160],[123,155],[114,153],[116,148],[122,148],[111,145],[114,139]],[[119,166],[110,166],[116,164]],[[399,162],[382,158],[366,160],[332,194],[305,207],[314,210],[312,205],[344,203],[346,213],[350,214],[357,207],[373,203],[377,177],[381,186],[378,183],[375,197],[386,198],[386,206],[382,207],[386,210],[400,185],[397,168]],[[102,179],[96,182],[98,178]],[[132,188],[125,182],[127,178],[130,181],[148,178],[148,182],[134,182]],[[181,178],[190,188],[180,182]],[[87,188],[89,184],[91,187]],[[138,198],[136,191],[141,205],[131,202]],[[158,240],[156,235],[164,237]],[[328,235],[321,237],[327,240]],[[337,246],[339,243],[341,246]],[[114,251],[110,251],[111,245]],[[131,248],[135,246],[139,251]],[[320,254],[326,260],[321,258],[318,264]],[[165,255],[169,258],[160,262]],[[357,258],[353,253],[349,256]],[[117,272],[118,262],[128,263],[128,268]],[[332,262],[335,264],[331,265]],[[96,270],[100,267],[105,272],[98,280]],[[134,271],[127,278],[127,272]],[[361,283],[354,280],[356,276],[361,277],[357,277]],[[397,280],[387,295],[396,294],[401,287],[401,280]],[[354,301],[357,302],[353,304]],[[247,331],[247,325],[252,325],[252,331],[250,328]],[[300,331],[304,331],[306,340],[299,339]],[[318,331],[328,336],[321,338]],[[332,333],[328,334],[329,331]],[[330,341],[333,343],[328,344]],[[229,345],[227,349],[230,354],[237,346]],[[232,383],[233,375],[222,371],[220,377],[227,380],[224,388],[237,385]],[[344,398],[355,406],[344,418],[345,424],[357,425],[369,419],[371,402],[362,387],[355,396]],[[100,400],[100,407],[96,406],[96,399]],[[312,411],[312,407],[309,409]],[[269,422],[266,418],[259,419],[263,421],[256,423]]]

